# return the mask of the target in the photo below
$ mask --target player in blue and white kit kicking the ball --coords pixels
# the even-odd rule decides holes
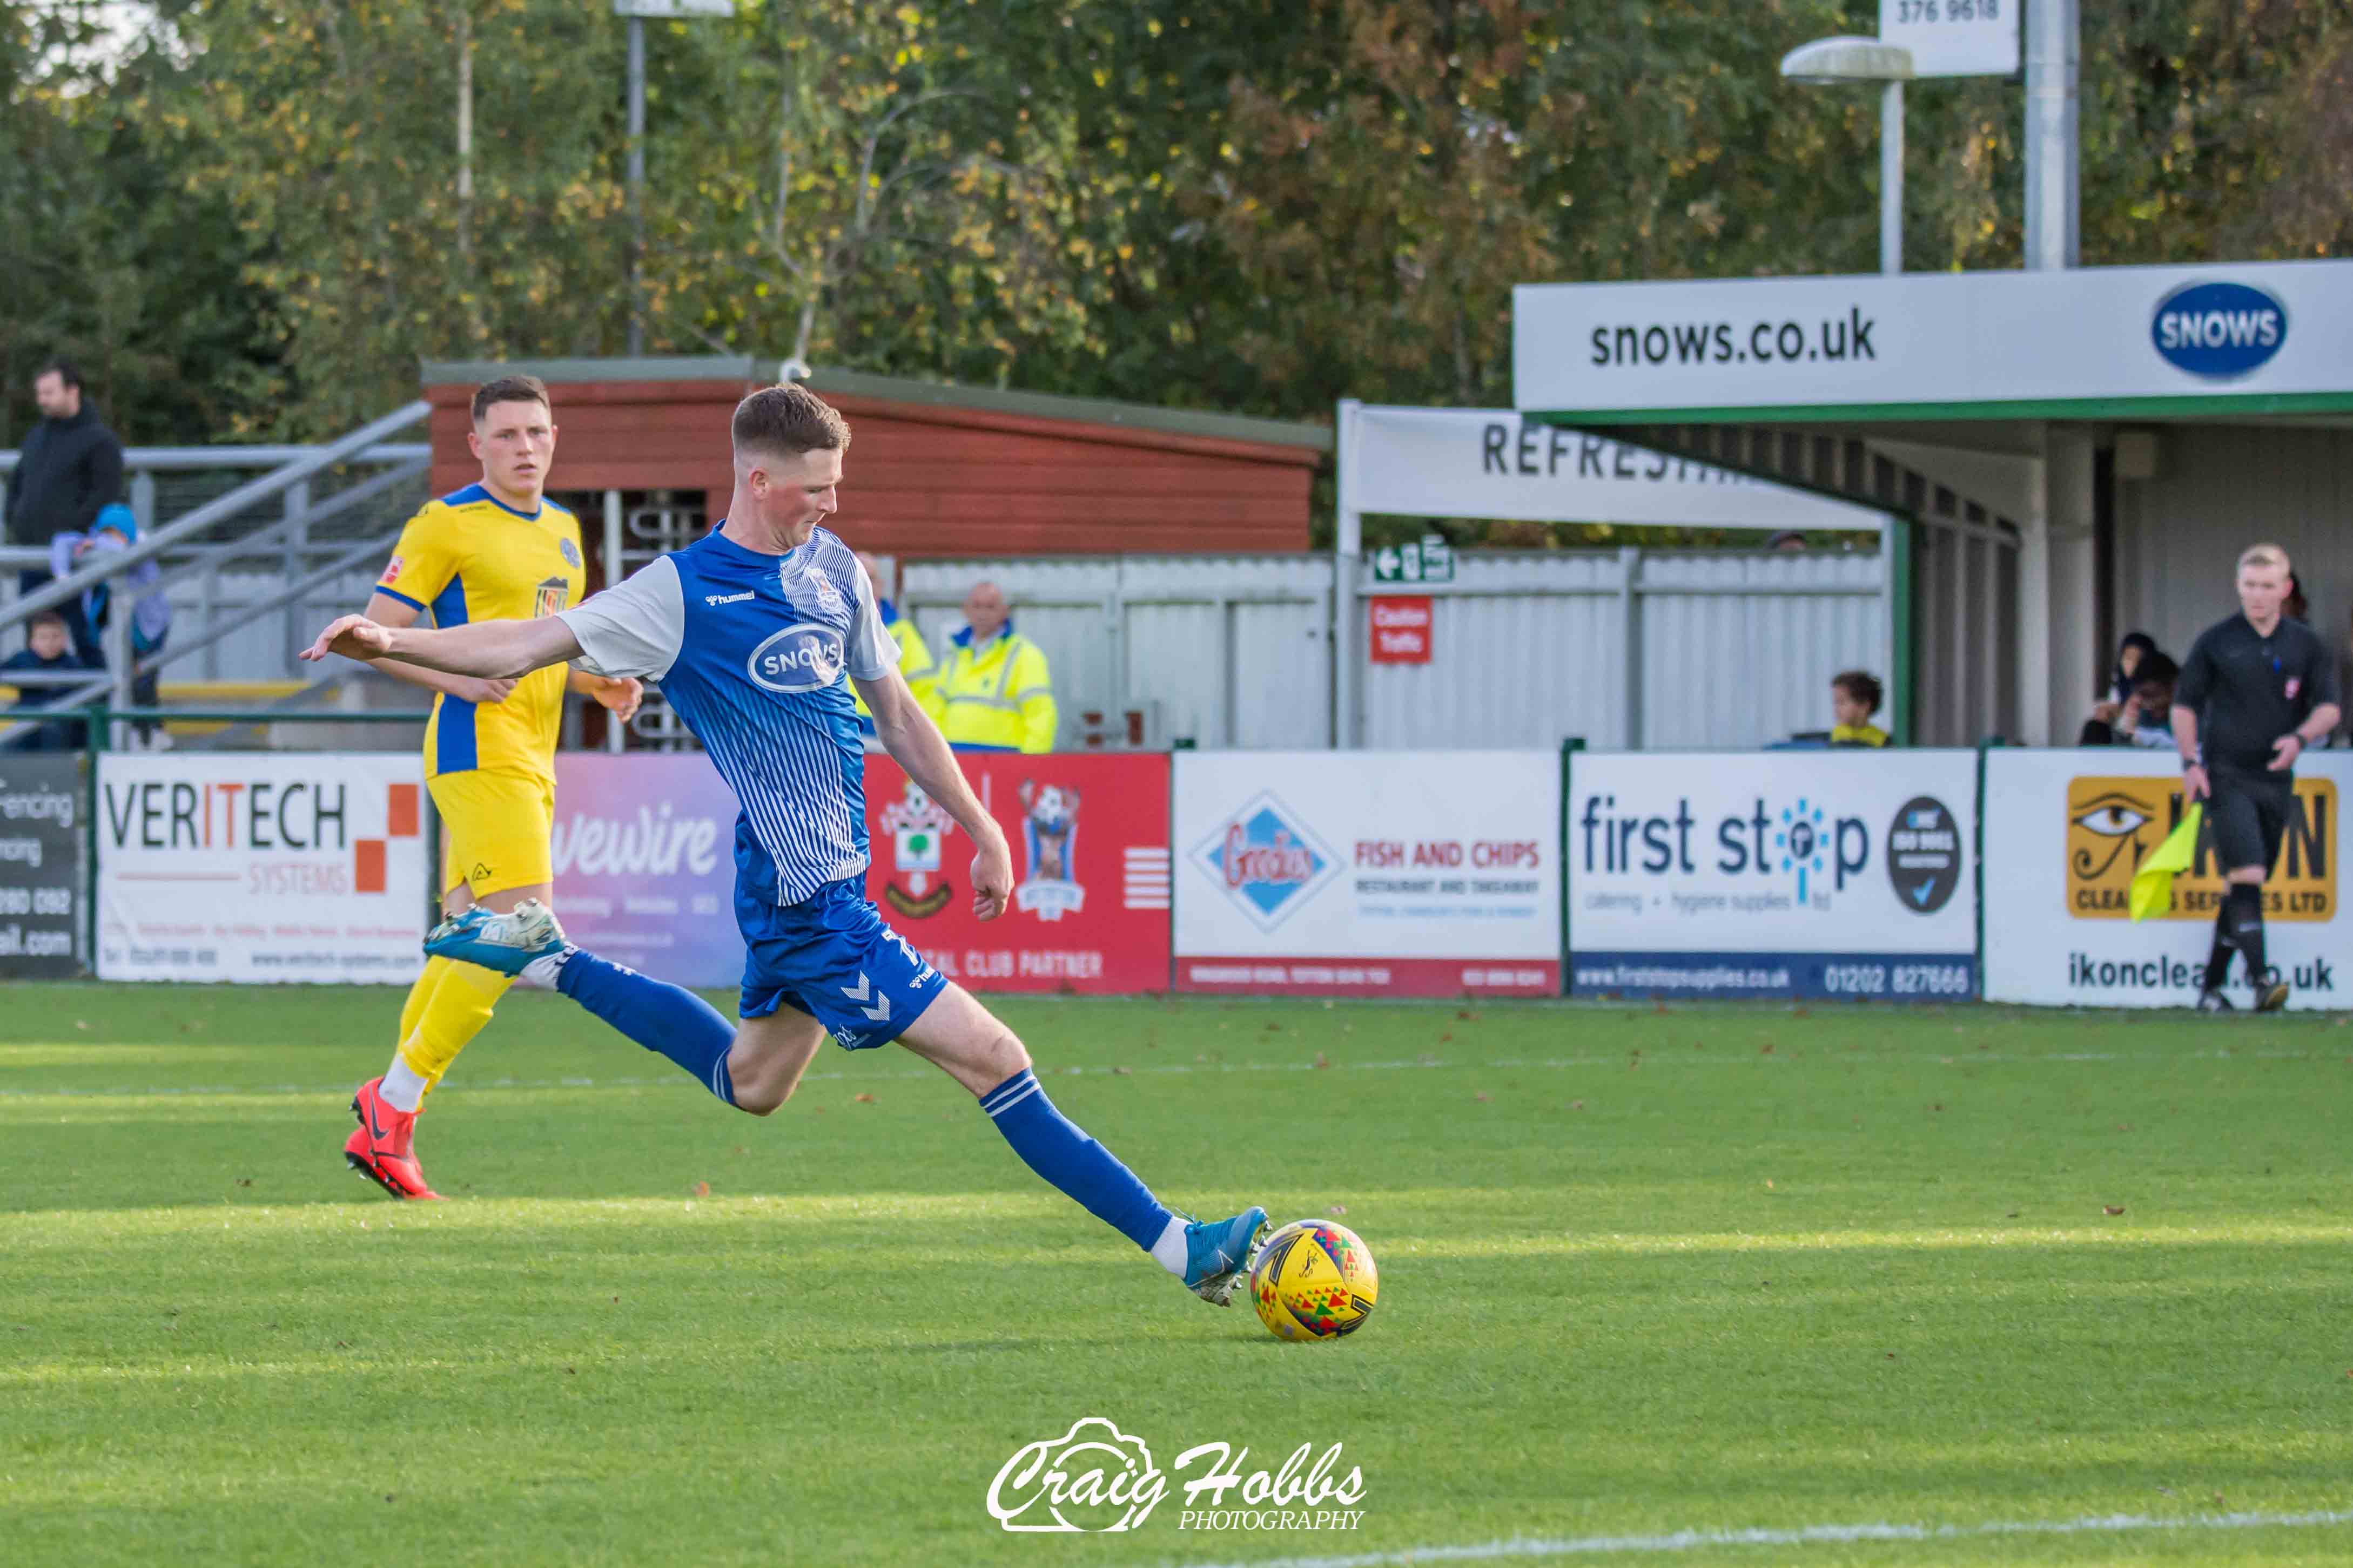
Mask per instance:
[[[344,616],[304,658],[400,658],[428,670],[520,679],[576,663],[645,677],[734,788],[741,1025],[689,990],[565,940],[536,900],[466,910],[426,952],[553,985],[755,1117],[784,1105],[826,1032],[861,1051],[899,1041],[979,1095],[1014,1152],[1195,1295],[1224,1307],[1249,1272],[1266,1211],[1231,1220],[1169,1213],[1104,1145],[1071,1124],[1028,1051],[866,900],[866,790],[852,682],[875,736],[972,835],[974,910],[1005,912],[1012,856],[955,755],[899,675],[899,644],[849,548],[816,527],[838,505],[849,425],[800,386],[734,411],[734,496],[701,541],[584,604],[532,621],[447,630]]]

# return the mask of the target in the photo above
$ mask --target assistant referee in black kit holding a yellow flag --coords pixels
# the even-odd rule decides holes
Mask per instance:
[[[2264,964],[2264,877],[2280,858],[2294,811],[2297,757],[2337,729],[2337,656],[2287,599],[2287,550],[2254,545],[2238,557],[2238,611],[2209,625],[2181,661],[2174,686],[2174,745],[2181,785],[2205,799],[2231,886],[2214,917],[2198,1011],[2231,1009],[2221,983],[2231,950],[2247,959],[2254,1011],[2287,1006],[2287,980]],[[2205,748],[2200,750],[2200,738]]]

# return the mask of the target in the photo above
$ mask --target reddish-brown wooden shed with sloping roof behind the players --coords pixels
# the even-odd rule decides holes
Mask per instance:
[[[772,360],[645,357],[428,362],[433,491],[480,477],[468,402],[525,371],[555,400],[548,491],[699,496],[727,508],[727,416],[774,381]],[[1132,402],[941,386],[819,369],[807,386],[852,425],[840,529],[899,559],[1306,550],[1308,491],[1332,451],[1322,425]],[[586,508],[591,538],[595,524]]]

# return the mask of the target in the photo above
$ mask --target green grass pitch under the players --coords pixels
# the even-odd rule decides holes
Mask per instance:
[[[395,1206],[395,992],[0,1001],[7,1563],[2353,1561],[2341,1018],[1002,1004],[1167,1201],[1346,1211],[1280,1345],[904,1051],[760,1121],[518,992]],[[1082,1415],[1362,1521],[1005,1533]]]

